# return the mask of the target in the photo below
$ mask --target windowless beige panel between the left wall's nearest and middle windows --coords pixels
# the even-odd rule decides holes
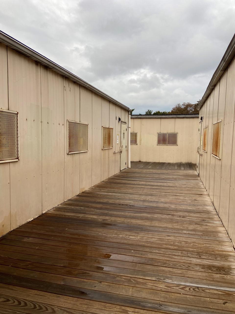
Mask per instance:
[[[41,66],[42,95],[42,210],[64,200],[64,82],[63,77]]]

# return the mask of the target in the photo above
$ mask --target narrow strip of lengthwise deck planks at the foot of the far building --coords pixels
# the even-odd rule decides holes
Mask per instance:
[[[150,161],[131,161],[131,168],[144,169],[168,169],[168,170],[196,170],[196,165],[183,162],[150,162]]]

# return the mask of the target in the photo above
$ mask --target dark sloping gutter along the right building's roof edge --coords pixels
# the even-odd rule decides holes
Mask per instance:
[[[205,94],[202,96],[202,99],[200,103],[197,106],[197,110],[200,110],[204,102],[206,101],[207,97],[212,92],[213,88],[223,75],[224,71],[227,69],[229,63],[232,61],[233,57],[235,56],[235,34],[232,37],[232,40],[230,41],[227,50],[225,51],[225,54],[222,57],[222,60],[220,61],[220,64],[218,65],[215,73],[212,76],[212,79],[207,86],[207,89],[205,91]]]

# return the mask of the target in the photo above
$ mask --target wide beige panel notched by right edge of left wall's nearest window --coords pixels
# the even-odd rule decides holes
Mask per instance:
[[[42,214],[40,65],[8,48],[9,110],[19,111],[19,161],[10,163],[11,228]]]

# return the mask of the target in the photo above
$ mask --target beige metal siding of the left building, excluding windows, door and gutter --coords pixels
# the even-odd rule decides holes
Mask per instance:
[[[0,164],[1,236],[120,169],[101,131],[113,127],[115,141],[120,123],[116,105],[1,44],[0,73],[1,107],[19,111],[20,148],[18,162]],[[67,120],[89,123],[88,152],[67,154]]]

